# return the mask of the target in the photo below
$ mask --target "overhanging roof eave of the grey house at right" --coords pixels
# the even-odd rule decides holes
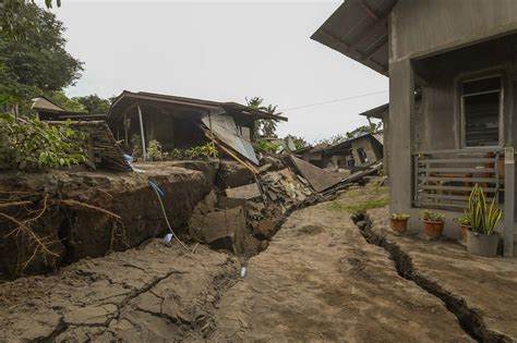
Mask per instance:
[[[397,0],[347,0],[311,38],[387,75],[387,15],[396,2]]]

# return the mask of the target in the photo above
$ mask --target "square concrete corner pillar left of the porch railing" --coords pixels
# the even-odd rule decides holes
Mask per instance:
[[[411,207],[411,120],[414,113],[414,77],[411,61],[389,65],[389,209],[409,212]]]

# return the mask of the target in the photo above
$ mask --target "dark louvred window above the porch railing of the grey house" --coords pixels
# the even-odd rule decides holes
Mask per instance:
[[[466,81],[461,84],[466,147],[500,145],[502,95],[501,76]]]

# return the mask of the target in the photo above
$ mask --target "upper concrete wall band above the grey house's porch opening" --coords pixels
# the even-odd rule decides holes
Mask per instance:
[[[390,17],[394,61],[517,29],[515,0],[398,0]]]

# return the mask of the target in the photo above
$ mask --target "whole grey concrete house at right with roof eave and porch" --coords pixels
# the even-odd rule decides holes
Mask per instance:
[[[450,219],[482,184],[513,256],[517,1],[347,0],[312,38],[389,77],[390,210],[416,226],[437,208],[456,236]]]

